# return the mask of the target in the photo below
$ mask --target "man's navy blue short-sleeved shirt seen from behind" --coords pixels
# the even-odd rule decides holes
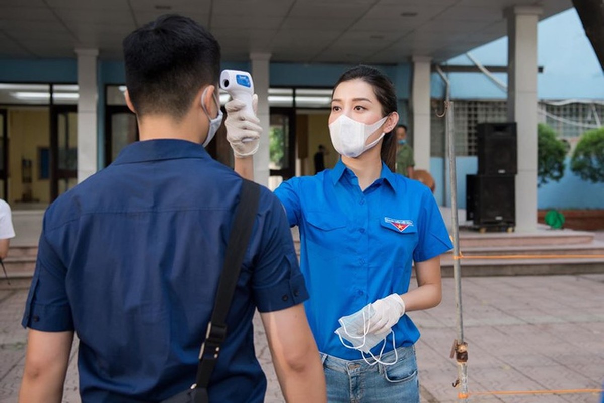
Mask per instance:
[[[193,383],[241,184],[199,144],[148,140],[48,208],[22,324],[75,330],[83,402],[158,401]],[[263,401],[255,308],[306,298],[283,206],[262,188],[211,401]]]

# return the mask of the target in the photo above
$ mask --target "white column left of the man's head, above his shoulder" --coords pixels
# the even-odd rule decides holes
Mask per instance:
[[[98,49],[76,49],[77,83],[77,181],[97,172],[97,57]]]

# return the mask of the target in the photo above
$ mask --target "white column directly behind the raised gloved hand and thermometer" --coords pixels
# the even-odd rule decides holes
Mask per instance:
[[[260,137],[260,148],[254,155],[254,180],[268,186],[270,174],[269,163],[269,127],[271,126],[271,114],[268,106],[269,67],[270,53],[251,53],[249,60],[252,62],[252,79],[254,79],[254,91],[258,94],[258,118],[262,126],[262,137]]]

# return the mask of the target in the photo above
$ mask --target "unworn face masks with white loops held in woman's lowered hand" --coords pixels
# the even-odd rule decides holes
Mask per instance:
[[[338,335],[342,346],[347,349],[359,350],[361,352],[361,356],[365,360],[365,363],[373,366],[377,363],[380,363],[385,366],[396,364],[399,360],[399,355],[396,351],[396,342],[394,341],[394,332],[392,329],[385,330],[381,334],[371,334],[369,333],[369,326],[371,317],[375,315],[375,310],[371,304],[365,305],[360,311],[355,312],[352,315],[343,316],[338,319],[339,324],[341,325],[334,332]],[[384,353],[384,348],[386,347],[386,338],[389,334],[392,334],[392,348],[394,350],[394,361],[391,363],[385,363],[381,361],[382,354]],[[344,339],[352,343],[352,346],[344,343]],[[382,342],[382,349],[379,352],[379,355],[376,357],[371,352],[371,349],[377,344]],[[368,359],[365,357],[365,353],[369,354],[371,358],[374,359],[373,363],[370,363]]]

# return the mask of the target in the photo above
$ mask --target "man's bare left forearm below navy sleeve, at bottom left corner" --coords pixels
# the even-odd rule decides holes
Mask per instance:
[[[60,403],[73,332],[29,330],[19,403]]]

